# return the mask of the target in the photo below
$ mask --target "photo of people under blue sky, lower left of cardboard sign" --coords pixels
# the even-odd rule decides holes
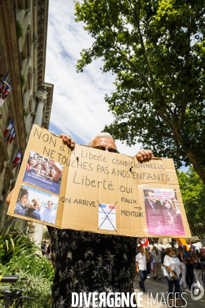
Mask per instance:
[[[57,196],[28,185],[22,185],[14,214],[55,224],[57,205]]]

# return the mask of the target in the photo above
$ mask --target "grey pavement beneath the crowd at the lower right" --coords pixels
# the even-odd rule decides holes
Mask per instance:
[[[154,308],[155,307],[161,307],[161,308],[169,307],[167,302],[165,304],[165,300],[167,301],[167,296],[168,296],[167,279],[165,277],[163,277],[163,273],[162,273],[162,277],[161,277],[160,281],[158,279],[154,280],[152,273],[150,273],[149,276],[150,276],[150,279],[147,279],[145,281],[145,288],[146,288],[147,293],[140,295],[140,297],[142,298],[142,300],[140,301],[140,304],[142,304],[143,307],[154,307]],[[142,292],[142,290],[139,287],[138,281],[139,281],[139,278],[135,277],[134,290],[135,290],[135,292]],[[203,279],[202,281],[205,285],[205,279]],[[158,305],[157,305],[157,300],[156,300],[155,303],[152,300],[152,304],[151,304],[151,293],[152,293],[152,297],[153,297],[154,301],[155,301],[156,295],[158,293]],[[162,293],[163,293],[163,296],[164,296],[165,299],[163,298]],[[148,305],[148,296],[149,296],[149,305]],[[183,297],[186,299],[187,305],[186,305],[186,303],[182,303],[181,300],[178,300],[178,303],[181,305],[181,307],[182,306],[187,307],[187,308],[202,308],[202,307],[205,307],[205,295],[203,295],[203,297],[199,300],[191,299],[190,293],[183,294]],[[161,300],[161,304],[160,304],[160,300]]]

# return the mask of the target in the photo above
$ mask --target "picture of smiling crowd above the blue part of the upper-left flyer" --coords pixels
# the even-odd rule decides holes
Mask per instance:
[[[33,157],[31,154],[29,156],[26,171],[60,184],[63,166],[51,159],[40,156],[38,153],[34,153]]]

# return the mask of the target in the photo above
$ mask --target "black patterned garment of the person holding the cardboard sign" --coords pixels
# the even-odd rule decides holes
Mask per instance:
[[[72,292],[134,292],[136,238],[48,227],[55,268],[52,307]]]

